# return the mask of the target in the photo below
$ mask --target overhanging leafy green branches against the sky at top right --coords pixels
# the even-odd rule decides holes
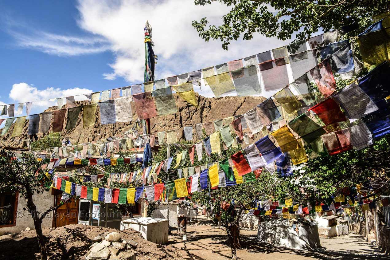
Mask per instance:
[[[220,39],[222,48],[227,50],[232,40],[243,37],[250,40],[254,33],[280,40],[291,39],[296,34],[304,40],[321,28],[324,31],[339,29],[346,25],[366,27],[371,18],[390,10],[386,0],[195,0],[195,5],[220,2],[231,6],[229,13],[222,17],[222,25],[210,25],[207,18],[192,21],[199,36]],[[356,35],[352,35],[356,36]]]

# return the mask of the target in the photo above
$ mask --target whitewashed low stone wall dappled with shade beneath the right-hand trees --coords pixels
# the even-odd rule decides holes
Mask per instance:
[[[261,242],[295,249],[321,248],[317,224],[298,225],[298,232],[287,219],[259,223],[257,239]]]

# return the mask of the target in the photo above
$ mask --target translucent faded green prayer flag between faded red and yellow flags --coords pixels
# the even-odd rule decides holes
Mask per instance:
[[[156,102],[157,114],[159,116],[165,116],[177,112],[175,99],[170,87],[156,89],[153,91],[153,96]]]

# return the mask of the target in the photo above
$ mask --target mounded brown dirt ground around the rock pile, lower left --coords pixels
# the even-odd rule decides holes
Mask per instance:
[[[67,225],[60,228],[44,228],[43,234],[47,238],[49,259],[79,260],[85,259],[85,253],[93,244],[90,240],[105,232],[119,232],[122,239],[133,240],[138,243],[137,260],[167,259],[184,260],[188,255],[172,245],[160,246],[145,240],[133,230],[125,232],[113,228],[96,226]],[[39,258],[39,248],[35,230],[23,231],[11,235],[0,236],[0,259],[30,260]]]

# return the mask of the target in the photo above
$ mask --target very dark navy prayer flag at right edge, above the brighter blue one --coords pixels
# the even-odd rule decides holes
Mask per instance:
[[[386,61],[360,78],[359,87],[373,102],[378,103],[390,95],[390,87],[388,86],[389,73],[390,62]]]

